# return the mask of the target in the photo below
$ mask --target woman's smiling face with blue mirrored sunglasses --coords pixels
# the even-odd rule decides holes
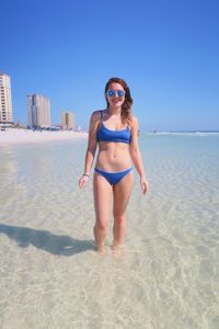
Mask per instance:
[[[120,83],[113,82],[108,86],[105,97],[111,107],[118,109],[125,102],[125,90]]]

